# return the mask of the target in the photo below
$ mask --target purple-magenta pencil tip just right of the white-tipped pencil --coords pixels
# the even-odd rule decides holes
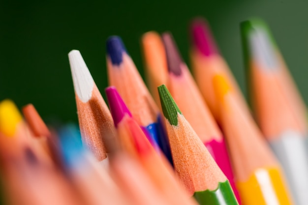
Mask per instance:
[[[105,92],[113,121],[117,127],[125,115],[131,117],[131,114],[114,86],[106,88]]]

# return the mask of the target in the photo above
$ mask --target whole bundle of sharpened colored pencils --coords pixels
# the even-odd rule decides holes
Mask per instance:
[[[307,110],[268,27],[241,24],[254,116],[206,20],[190,28],[194,78],[170,32],[142,36],[150,91],[109,37],[108,106],[69,52],[79,126],[47,126],[32,104],[22,115],[0,101],[1,202],[307,205]]]

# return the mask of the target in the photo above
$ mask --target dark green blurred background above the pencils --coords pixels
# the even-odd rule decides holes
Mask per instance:
[[[141,35],[171,31],[189,66],[188,26],[196,16],[208,19],[220,52],[246,94],[239,23],[258,16],[272,29],[308,102],[307,10],[305,0],[1,0],[0,100],[11,98],[19,108],[32,103],[47,122],[77,122],[69,51],[80,50],[103,94],[108,85],[108,36],[123,38],[143,75]]]

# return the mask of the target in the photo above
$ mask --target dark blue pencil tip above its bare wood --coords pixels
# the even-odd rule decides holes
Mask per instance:
[[[106,50],[112,64],[120,65],[123,61],[123,52],[126,53],[125,46],[119,36],[110,36],[106,42]]]

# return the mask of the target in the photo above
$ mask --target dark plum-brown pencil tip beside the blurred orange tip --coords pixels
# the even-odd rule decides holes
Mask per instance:
[[[165,32],[161,37],[165,46],[168,71],[176,76],[180,76],[182,74],[181,64],[183,63],[183,60],[180,56],[177,45],[174,42],[172,34]]]

